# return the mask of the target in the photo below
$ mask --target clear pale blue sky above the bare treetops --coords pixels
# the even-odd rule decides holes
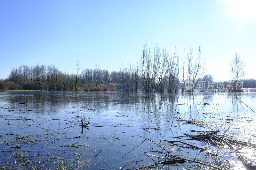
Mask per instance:
[[[0,78],[13,67],[55,64],[119,70],[144,42],[180,56],[201,45],[206,73],[229,79],[237,52],[256,78],[256,1],[0,1]]]

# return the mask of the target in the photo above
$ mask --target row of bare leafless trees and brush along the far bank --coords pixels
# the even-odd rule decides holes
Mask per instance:
[[[238,57],[238,58],[237,58]],[[235,60],[236,59],[236,60]],[[238,63],[237,63],[238,62]],[[185,50],[181,56],[176,48],[171,52],[158,44],[151,46],[144,43],[141,55],[136,64],[127,64],[118,71],[100,69],[98,64],[94,69],[81,70],[79,62],[76,70],[68,73],[60,71],[54,64],[13,68],[9,77],[0,81],[1,90],[41,90],[41,91],[145,91],[145,92],[178,92],[186,91],[184,82],[209,79],[212,75],[204,75],[205,59],[199,46],[196,51],[192,47]],[[236,65],[234,64],[236,63]],[[243,67],[240,56],[235,55],[231,63],[232,76],[236,81],[242,78]],[[243,64],[243,63],[242,63]],[[240,70],[239,70],[240,69]],[[236,75],[234,75],[234,72]],[[252,80],[248,82],[251,85]],[[248,85],[245,86],[247,87]],[[194,91],[194,89],[189,90]]]

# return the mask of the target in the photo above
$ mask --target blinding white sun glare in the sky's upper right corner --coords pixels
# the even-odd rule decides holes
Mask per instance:
[[[225,0],[224,4],[232,18],[256,21],[256,0]]]

